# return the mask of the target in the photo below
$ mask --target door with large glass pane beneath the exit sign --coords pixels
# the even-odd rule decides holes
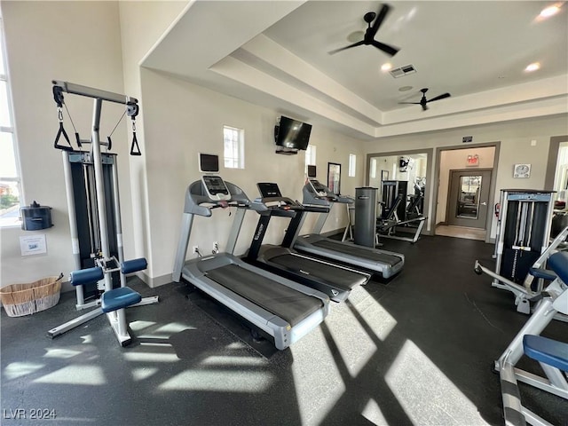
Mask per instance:
[[[451,170],[447,225],[485,229],[491,170]]]

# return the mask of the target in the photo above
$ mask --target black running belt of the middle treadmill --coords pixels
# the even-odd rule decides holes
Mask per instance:
[[[300,274],[305,273],[306,277],[317,277],[326,281],[330,286],[341,290],[351,290],[351,288],[362,286],[367,282],[367,276],[362,273],[323,264],[303,256],[285,254],[271,256],[269,260],[292,271],[299,271]]]

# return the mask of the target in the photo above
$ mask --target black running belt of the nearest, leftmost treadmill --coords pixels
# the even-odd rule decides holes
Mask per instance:
[[[286,320],[294,327],[323,306],[317,297],[304,295],[236,264],[207,272],[207,276],[234,293]]]

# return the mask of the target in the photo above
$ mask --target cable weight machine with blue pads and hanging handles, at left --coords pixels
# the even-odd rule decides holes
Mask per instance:
[[[112,148],[112,139],[109,136],[106,142],[100,141],[99,125],[103,100],[125,105],[124,114],[128,114],[132,119],[133,138],[130,154],[141,155],[135,125],[138,100],[79,84],[60,81],[52,83],[53,98],[58,106],[59,116],[59,131],[53,146],[62,150],[69,227],[76,268],[70,274],[70,282],[75,287],[77,310],[90,307],[96,309],[59,327],[51,328],[48,336],[52,338],[61,335],[106,313],[118,341],[122,346],[126,346],[130,343],[130,335],[124,308],[155,304],[158,297],[142,298],[138,292],[126,286],[126,275],[145,270],[147,262],[143,257],[124,260],[116,155],[101,153],[101,146],[106,146],[107,150]],[[63,127],[63,92],[94,99],[91,139],[81,139],[75,130],[77,146],[81,148],[84,144],[90,144],[90,152],[75,150],[71,146]],[[73,123],[72,119],[71,122]],[[65,139],[67,146],[59,145],[61,137]],[[96,300],[85,303],[85,289],[94,293]]]

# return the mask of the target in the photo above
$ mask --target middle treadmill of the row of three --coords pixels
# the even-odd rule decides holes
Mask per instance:
[[[325,293],[334,302],[342,302],[351,294],[352,288],[367,284],[371,275],[347,266],[334,264],[313,256],[297,253],[291,248],[289,235],[295,233],[296,226],[303,220],[304,208],[300,203],[283,197],[277,184],[256,184],[261,198],[253,204],[263,206],[256,209],[260,217],[256,225],[253,241],[245,260],[267,271],[277,273]],[[315,207],[316,211],[321,208]],[[281,246],[264,244],[264,234],[271,217],[288,217],[290,224]]]

